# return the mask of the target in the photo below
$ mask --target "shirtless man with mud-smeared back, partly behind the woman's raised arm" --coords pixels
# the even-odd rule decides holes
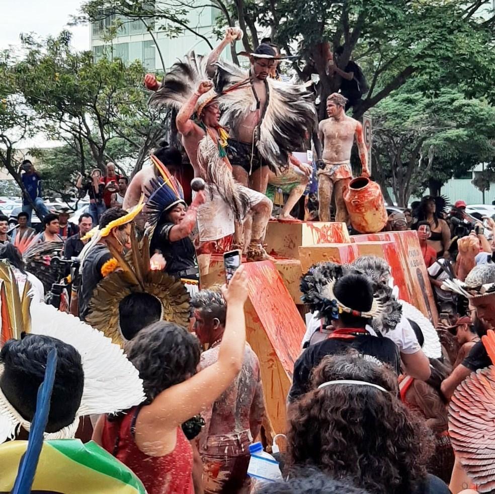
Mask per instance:
[[[204,369],[218,359],[225,330],[225,300],[220,293],[201,290],[193,296],[191,308],[194,331],[200,342],[208,345],[199,364]],[[250,492],[250,479],[246,475],[249,445],[260,433],[264,412],[260,362],[246,343],[239,374],[202,413],[206,425],[199,437],[199,453],[205,494]]]

